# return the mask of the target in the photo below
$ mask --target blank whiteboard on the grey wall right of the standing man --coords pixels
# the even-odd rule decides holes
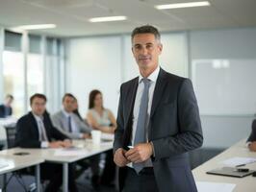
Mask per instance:
[[[200,114],[256,112],[256,60],[192,60],[192,83]]]

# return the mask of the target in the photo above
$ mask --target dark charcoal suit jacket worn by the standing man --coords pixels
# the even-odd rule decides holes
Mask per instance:
[[[126,148],[131,140],[138,83],[136,78],[121,85],[114,152],[118,148]],[[202,145],[203,135],[189,79],[160,70],[153,95],[148,137],[154,145],[152,162],[159,191],[196,191],[187,152]],[[126,169],[119,169],[120,189]]]

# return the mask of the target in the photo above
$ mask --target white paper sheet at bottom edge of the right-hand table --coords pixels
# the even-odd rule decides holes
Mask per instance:
[[[232,192],[236,187],[233,183],[196,181],[198,192]]]

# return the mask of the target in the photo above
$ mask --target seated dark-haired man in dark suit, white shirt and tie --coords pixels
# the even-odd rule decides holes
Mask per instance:
[[[16,124],[15,145],[23,148],[62,148],[70,147],[70,140],[53,127],[48,112],[45,110],[46,97],[35,94],[30,98],[32,111],[22,116]],[[66,139],[66,140],[64,140]],[[50,180],[45,191],[56,192],[62,184],[62,165],[42,163],[40,174],[42,180]],[[69,167],[69,190],[76,192],[77,188]]]

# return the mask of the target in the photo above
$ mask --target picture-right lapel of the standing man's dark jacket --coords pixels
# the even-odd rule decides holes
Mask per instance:
[[[154,95],[153,95],[153,101],[152,101],[152,107],[150,112],[150,117],[153,116],[156,108],[158,107],[159,102],[161,101],[163,92],[166,87],[166,71],[164,71],[162,68],[160,69],[159,76],[156,82]]]

